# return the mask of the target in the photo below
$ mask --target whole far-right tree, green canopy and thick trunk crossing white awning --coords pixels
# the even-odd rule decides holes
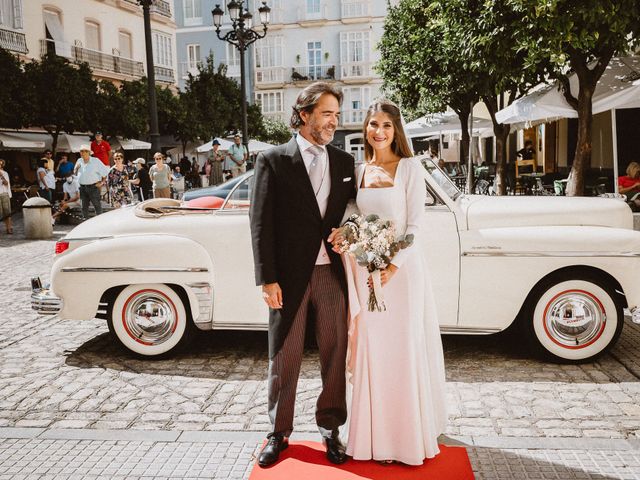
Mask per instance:
[[[614,55],[640,42],[640,0],[509,0],[523,17],[518,47],[527,63],[549,59],[547,73],[578,112],[578,138],[567,195],[582,195],[591,163],[593,94]],[[572,91],[569,74],[578,78]]]

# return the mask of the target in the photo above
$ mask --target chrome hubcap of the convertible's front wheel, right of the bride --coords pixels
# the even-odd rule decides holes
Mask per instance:
[[[583,347],[594,342],[604,329],[607,315],[600,301],[587,292],[562,293],[547,305],[545,330],[565,347]]]

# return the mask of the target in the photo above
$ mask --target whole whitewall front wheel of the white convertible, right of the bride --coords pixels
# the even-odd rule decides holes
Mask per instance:
[[[616,298],[610,285],[590,276],[551,278],[530,298],[524,334],[550,360],[593,360],[622,332],[624,311]]]

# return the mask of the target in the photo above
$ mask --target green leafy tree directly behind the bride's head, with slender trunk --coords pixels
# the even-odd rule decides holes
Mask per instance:
[[[401,0],[390,6],[379,44],[384,89],[409,117],[451,107],[462,129],[460,161],[469,158],[469,115],[479,99],[479,79],[461,58],[459,32],[439,1]],[[469,166],[467,187],[473,188]]]

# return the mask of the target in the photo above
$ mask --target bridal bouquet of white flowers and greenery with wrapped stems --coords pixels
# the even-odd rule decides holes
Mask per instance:
[[[342,226],[341,233],[344,239],[337,245],[339,252],[352,255],[358,265],[371,273],[369,311],[386,310],[380,271],[389,266],[396,253],[413,243],[413,235],[397,240],[393,222],[382,220],[375,214],[351,215]]]

